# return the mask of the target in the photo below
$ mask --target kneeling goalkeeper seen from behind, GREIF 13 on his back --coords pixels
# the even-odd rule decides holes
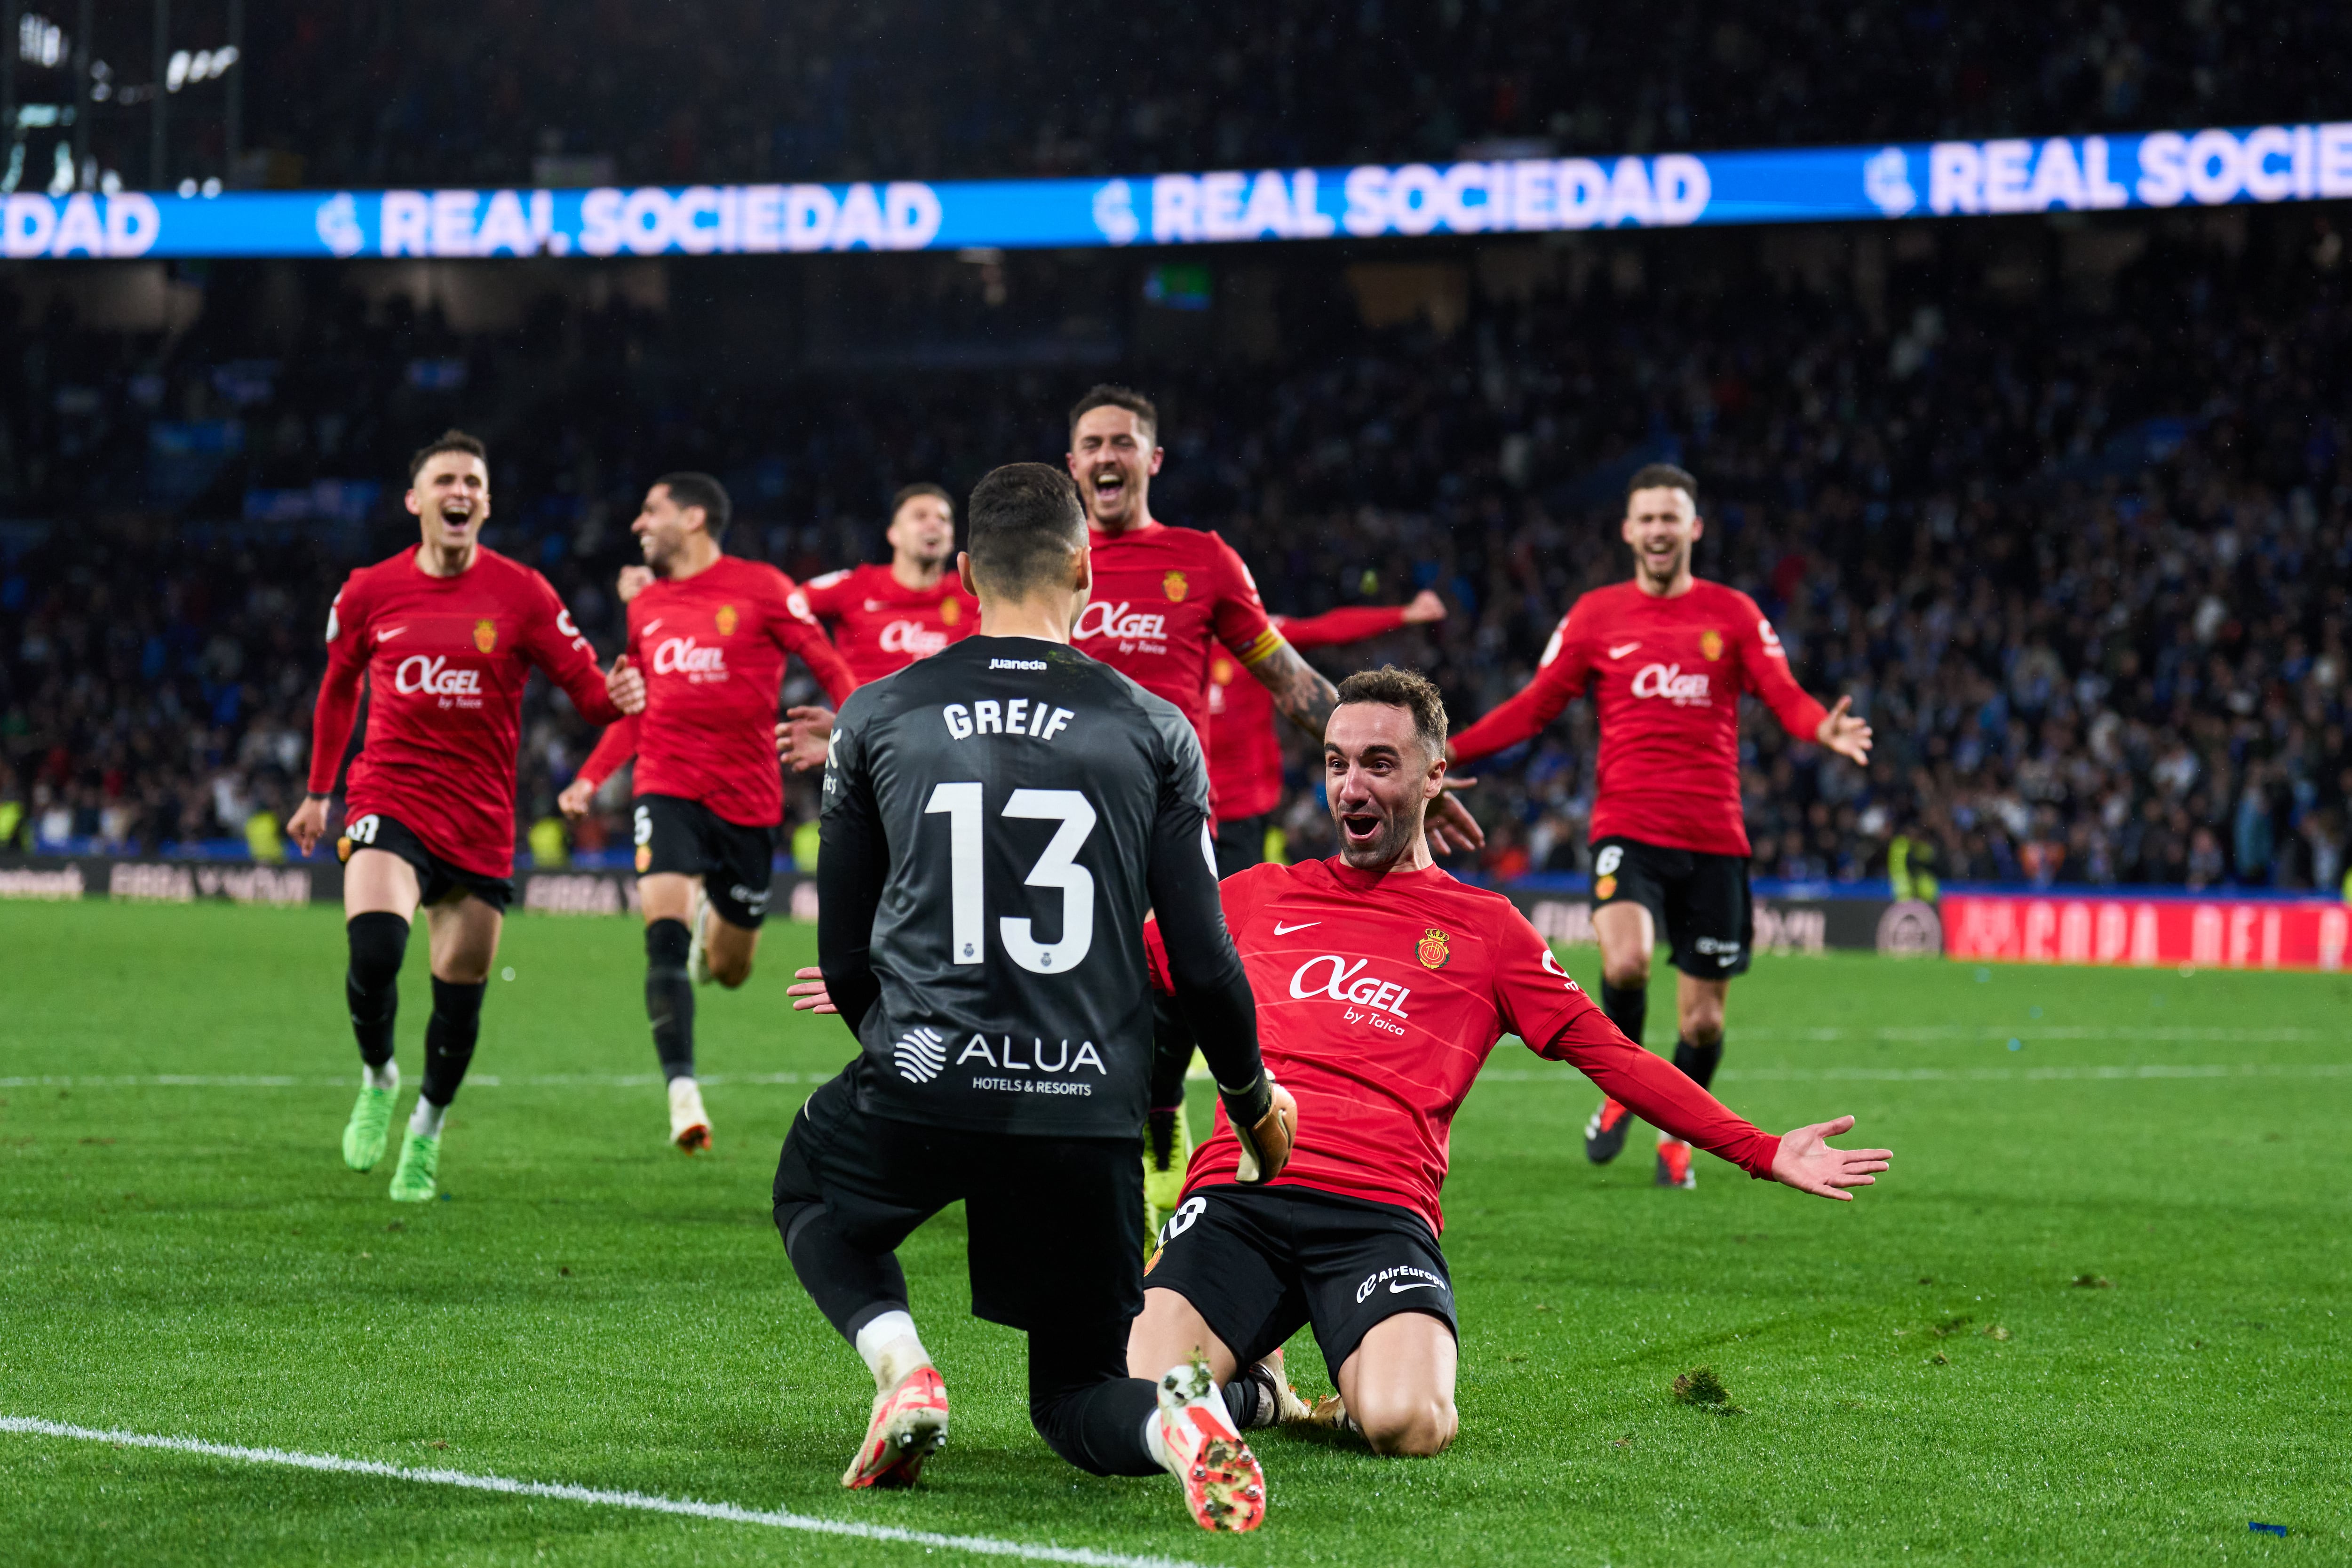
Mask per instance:
[[[962,1199],[971,1309],[1028,1331],[1030,1420],[1054,1453],[1094,1474],[1169,1469],[1197,1523],[1249,1530],[1265,1481],[1207,1368],[1178,1356],[1157,1385],[1127,1378],[1143,1305],[1148,907],[1247,1128],[1242,1180],[1282,1171],[1294,1114],[1258,1063],[1249,980],[1218,917],[1200,741],[1174,705],[1070,649],[1089,569],[1063,473],[990,473],[957,562],[978,635],[840,710],[818,985],[861,1053],[793,1119],[776,1229],[875,1375],[844,1486],[908,1486],[946,1441],[946,1387],[894,1251]]]

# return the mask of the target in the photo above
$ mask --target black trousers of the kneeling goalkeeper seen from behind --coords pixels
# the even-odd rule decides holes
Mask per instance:
[[[1157,1474],[1157,1389],[1127,1375],[1143,1309],[1141,1138],[1009,1138],[870,1117],[851,1063],[802,1105],[776,1161],[776,1234],[802,1288],[856,1342],[906,1312],[896,1248],[964,1204],[971,1312],[1028,1331],[1030,1425],[1098,1476]]]

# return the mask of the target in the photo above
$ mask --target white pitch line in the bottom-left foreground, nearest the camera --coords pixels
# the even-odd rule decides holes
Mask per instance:
[[[245,1465],[285,1465],[292,1469],[325,1469],[341,1476],[381,1476],[386,1481],[416,1481],[423,1486],[461,1486],[475,1493],[506,1493],[510,1497],[555,1497],[560,1502],[593,1502],[642,1514],[682,1514],[687,1519],[720,1519],[724,1523],[755,1523],[771,1530],[804,1530],[809,1535],[849,1535],[854,1540],[880,1540],[906,1547],[971,1552],[976,1556],[1011,1556],[1028,1563],[1082,1563],[1084,1568],[1200,1568],[1171,1556],[1127,1556],[1122,1552],[1094,1552],[1091,1547],[1035,1547],[1018,1540],[995,1540],[993,1535],[938,1535],[934,1530],[901,1530],[887,1523],[858,1523],[854,1519],[811,1519],[809,1514],[786,1514],[781,1509],[746,1509],[734,1502],[694,1502],[691,1497],[656,1497],[652,1493],[623,1493],[600,1486],[569,1486],[562,1481],[513,1481],[508,1476],[477,1476],[463,1469],[407,1469],[379,1460],[346,1460],[334,1453],[292,1453],[287,1448],[245,1448],[240,1443],[207,1443],[193,1436],[155,1436],[148,1432],[101,1432],[96,1427],[71,1427],[66,1422],[33,1415],[0,1415],[0,1432],[26,1436],[64,1436],[85,1443],[118,1443],[122,1448],[165,1448],[169,1453],[200,1453],[214,1460],[240,1460]]]

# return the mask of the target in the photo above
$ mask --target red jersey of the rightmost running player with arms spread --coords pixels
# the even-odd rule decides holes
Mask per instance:
[[[1602,726],[1592,837],[1708,856],[1748,853],[1740,693],[1764,698],[1799,741],[1828,717],[1788,672],[1771,621],[1738,588],[1698,581],[1661,599],[1613,583],[1569,607],[1526,689],[1454,736],[1456,762],[1541,733],[1588,684]]]

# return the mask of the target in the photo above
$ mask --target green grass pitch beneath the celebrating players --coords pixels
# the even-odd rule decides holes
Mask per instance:
[[[407,1208],[390,1159],[339,1159],[334,912],[0,905],[0,1415],[1195,1563],[2352,1559],[2352,978],[1759,961],[1717,1088],[1769,1128],[1858,1114],[1896,1168],[1851,1206],[1712,1159],[1658,1192],[1639,1135],[1592,1168],[1590,1086],[1505,1044],[1446,1187],[1461,1441],[1381,1462],[1265,1436],[1268,1526],[1211,1537],[1167,1481],[1082,1476],[1030,1434],[1021,1340],[964,1314],[953,1213],[906,1265],[955,1439],[915,1493],[837,1488],[870,1382],[767,1218],[793,1110],[849,1058],[786,1011],[811,952],[771,926],[743,992],[703,992],[717,1150],[682,1159],[635,926],[510,922],[449,1199]],[[219,1081],[254,1077],[282,1081]],[[1738,1413],[1670,1396],[1698,1366]],[[1305,1335],[1294,1373],[1327,1387]],[[0,1542],[981,1561],[7,1432]]]

